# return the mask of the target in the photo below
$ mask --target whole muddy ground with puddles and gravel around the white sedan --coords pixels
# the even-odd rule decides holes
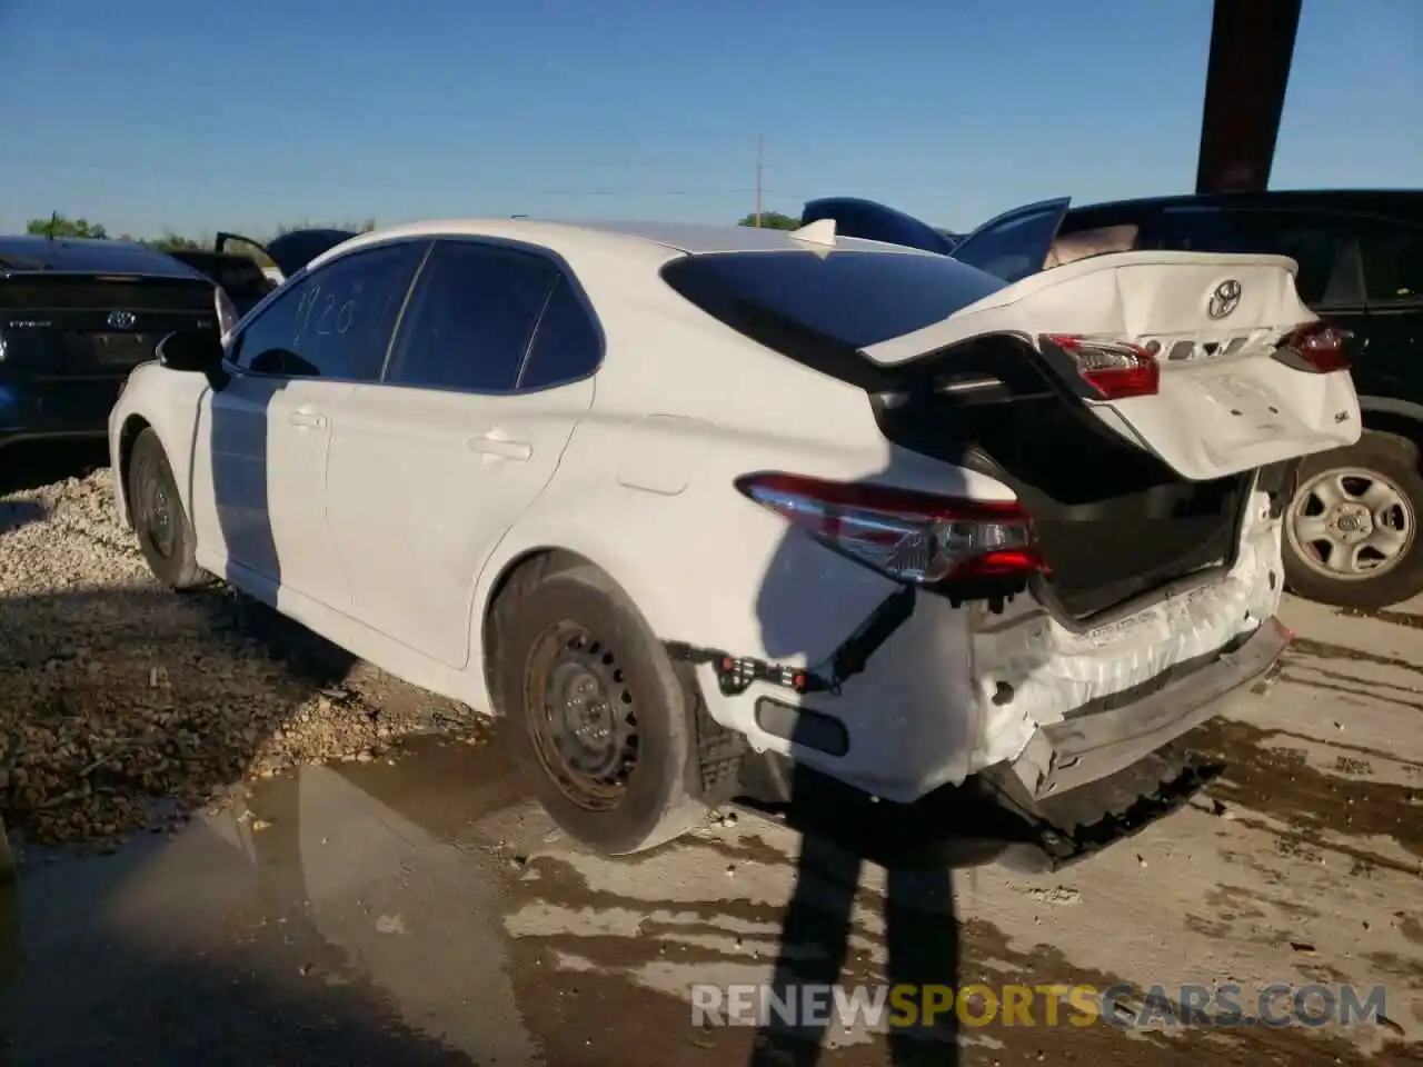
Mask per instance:
[[[242,598],[157,590],[107,477],[0,501],[14,1063],[811,1063],[692,1023],[692,983],[777,959],[811,982],[1237,983],[1247,1014],[1271,983],[1386,989],[1352,1027],[1039,1017],[928,1051],[831,1027],[824,1064],[1423,1061],[1423,609],[1289,600],[1275,684],[1191,738],[1222,777],[1056,875],[887,872],[748,814],[612,862],[554,832],[468,710]]]

